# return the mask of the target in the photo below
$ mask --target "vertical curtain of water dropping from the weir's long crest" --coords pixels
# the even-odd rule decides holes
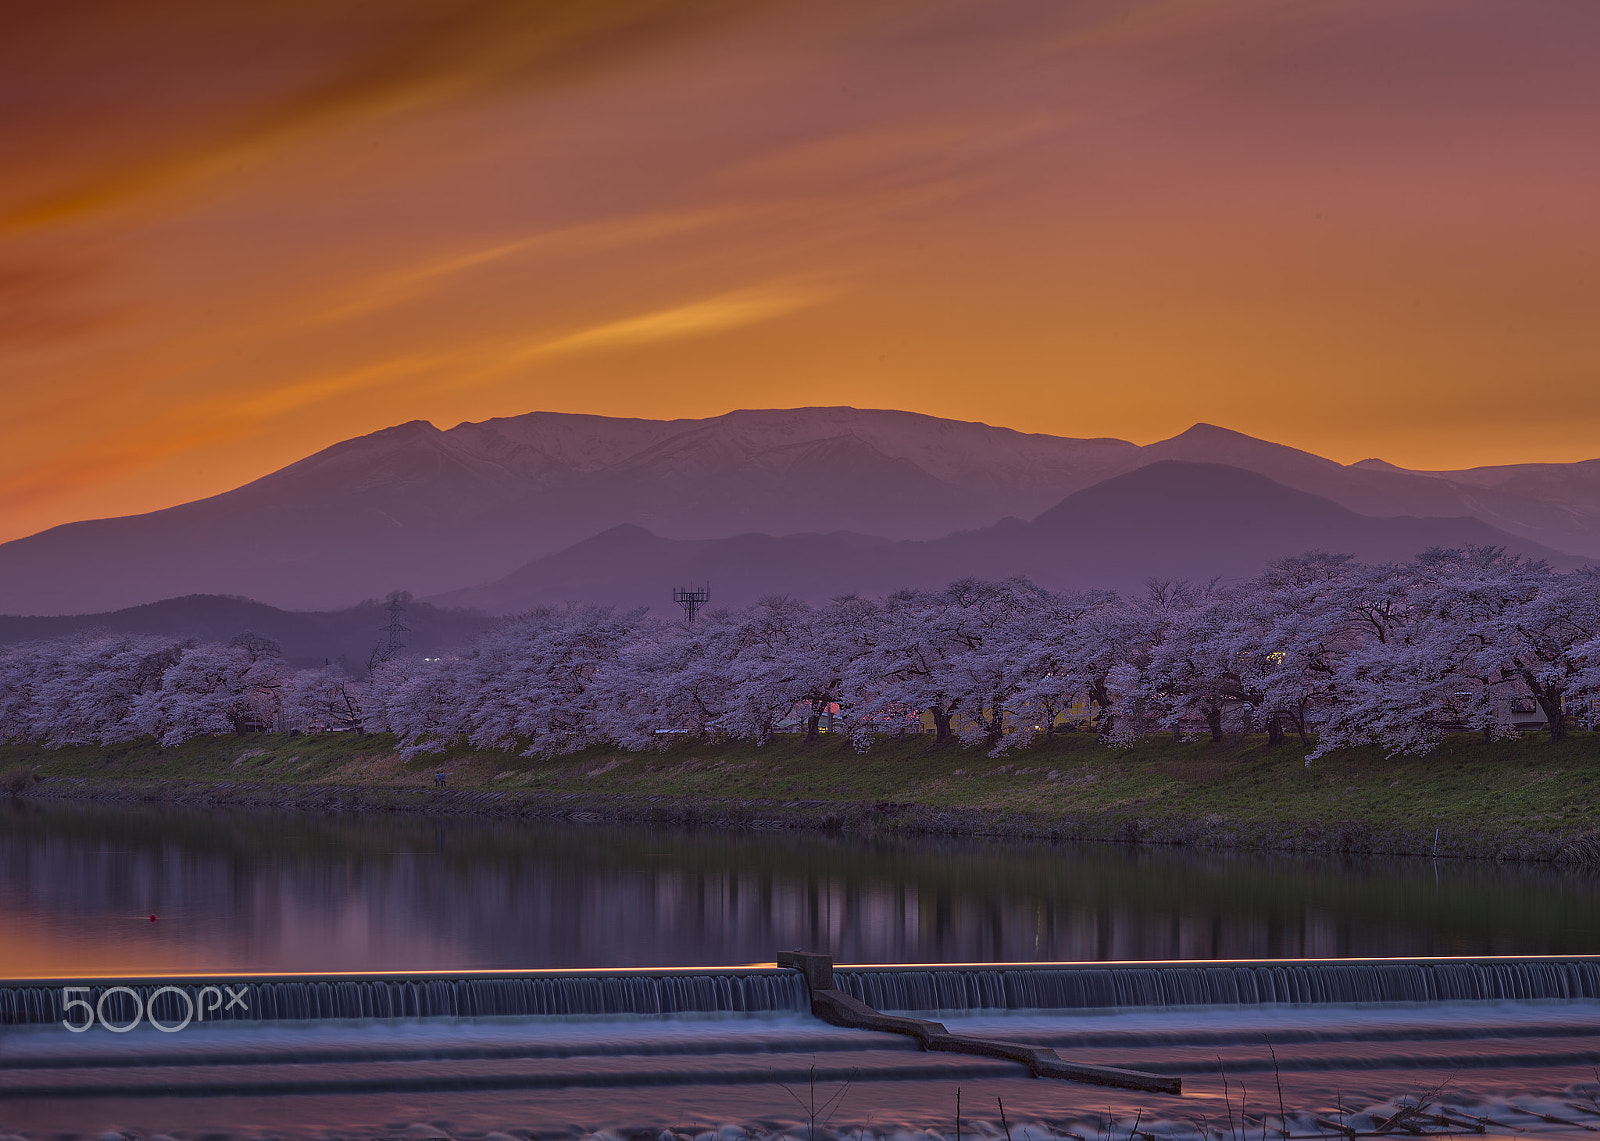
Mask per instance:
[[[133,1019],[141,1005],[155,1018],[174,1023],[182,1021],[189,1002],[202,1000],[205,987],[224,984],[248,986],[246,997],[234,1005],[208,997],[205,1003],[216,1008],[206,1011],[206,1021],[798,1013],[810,1008],[802,975],[773,967],[219,975],[0,979],[0,1024],[64,1021],[64,987],[83,987],[72,997],[98,1007],[112,1023]],[[1600,999],[1600,955],[835,967],[832,986],[880,1011]],[[222,995],[226,999],[227,992]]]

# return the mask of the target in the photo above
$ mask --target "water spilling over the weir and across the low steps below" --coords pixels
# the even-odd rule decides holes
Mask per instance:
[[[0,981],[0,1117],[32,1138],[70,1127],[365,1141],[421,1136],[427,1122],[456,1138],[554,1138],[565,1123],[576,1141],[712,1119],[738,1123],[738,1136],[800,1138],[814,1122],[803,1101],[795,1115],[795,1095],[821,1088],[848,1099],[845,1135],[886,1141],[949,1136],[965,1090],[970,1123],[987,1112],[1002,1128],[1003,1099],[1014,1136],[1125,1141],[1131,1122],[1133,1133],[1142,1123],[1147,1136],[1206,1141],[1219,1098],[1232,1090],[1242,1114],[1248,1082],[1250,1107],[1286,1112],[1294,1136],[1334,1117],[1374,1133],[1446,1085],[1442,1111],[1534,1131],[1538,1114],[1578,1115],[1600,1130],[1600,1101],[1582,1109],[1600,1096],[1600,955],[781,959],[795,968]],[[64,1019],[64,989],[88,1010]],[[186,1023],[208,989],[203,1023]],[[245,1002],[229,1003],[234,992]],[[88,1011],[96,1026],[61,1027]]]

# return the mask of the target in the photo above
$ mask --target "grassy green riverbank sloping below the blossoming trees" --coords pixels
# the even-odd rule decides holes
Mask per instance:
[[[928,751],[918,739],[856,754],[842,739],[766,747],[675,743],[533,760],[454,749],[402,760],[384,736],[211,738],[160,751],[0,747],[26,795],[578,816],[720,826],[845,827],[1144,840],[1322,851],[1552,859],[1600,829],[1600,733],[1486,744],[1429,757],[1349,751],[1302,763],[1261,738],[1152,739],[1106,749],[1064,735],[1011,757]],[[448,771],[448,791],[434,773]],[[18,781],[11,781],[18,784]]]

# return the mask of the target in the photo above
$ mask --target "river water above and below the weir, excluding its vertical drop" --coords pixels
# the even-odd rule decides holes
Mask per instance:
[[[789,947],[846,963],[1555,955],[1600,949],[1597,903],[1592,874],[1480,861],[0,802],[11,979],[733,967]],[[1326,1131],[1427,1093],[1507,1133],[1590,1136],[1539,1112],[1600,1128],[1594,999],[922,1013],[1181,1075],[1184,1095],[922,1053],[826,1026],[803,999],[181,1034],[46,1021],[0,1026],[0,1133],[1198,1141],[1240,1136],[1235,1101],[1256,1136],[1280,1096],[1293,1130]]]

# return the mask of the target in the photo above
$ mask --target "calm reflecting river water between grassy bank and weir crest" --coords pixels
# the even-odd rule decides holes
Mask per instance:
[[[6,976],[1563,954],[1597,899],[1486,863],[0,803]]]

